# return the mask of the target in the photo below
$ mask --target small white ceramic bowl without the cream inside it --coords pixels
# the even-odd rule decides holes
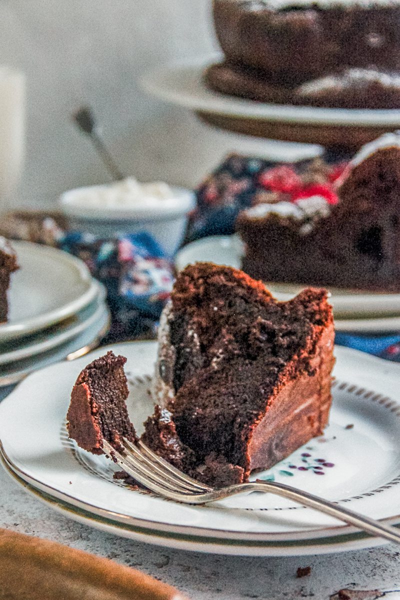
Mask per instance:
[[[185,234],[188,213],[196,206],[193,191],[171,187],[173,197],[151,206],[85,204],[85,191],[91,193],[101,186],[81,187],[66,191],[59,206],[70,220],[71,227],[100,237],[128,233],[149,233],[168,256],[173,256]]]

